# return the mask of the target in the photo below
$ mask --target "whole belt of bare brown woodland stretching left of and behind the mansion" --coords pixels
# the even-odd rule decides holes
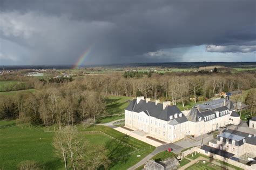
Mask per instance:
[[[12,75],[1,79],[29,82],[36,92],[20,92],[0,98],[0,119],[19,118],[35,125],[53,125],[55,129],[95,122],[97,116],[105,114],[108,95],[170,100],[172,104],[185,107],[191,100],[197,103],[214,97],[216,93],[256,87],[255,74],[246,72],[111,73],[61,80]],[[246,100],[252,114],[255,113],[255,96],[255,91],[252,91]]]

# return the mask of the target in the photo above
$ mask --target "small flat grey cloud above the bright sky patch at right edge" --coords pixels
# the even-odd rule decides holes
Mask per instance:
[[[256,45],[207,45],[206,51],[208,52],[255,52]]]

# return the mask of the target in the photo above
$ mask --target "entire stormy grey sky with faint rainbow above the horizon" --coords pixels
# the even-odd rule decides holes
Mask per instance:
[[[256,62],[256,1],[0,0],[0,65]]]

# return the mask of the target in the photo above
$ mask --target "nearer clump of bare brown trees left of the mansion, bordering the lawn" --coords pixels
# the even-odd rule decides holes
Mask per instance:
[[[0,98],[0,119],[19,119],[33,125],[62,126],[95,123],[105,113],[104,98],[98,92],[73,86],[49,87],[36,93],[17,93]],[[90,121],[90,122],[88,122]]]

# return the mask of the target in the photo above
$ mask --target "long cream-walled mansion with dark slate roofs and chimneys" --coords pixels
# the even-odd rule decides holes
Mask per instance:
[[[215,107],[216,104],[219,107]],[[222,104],[221,104],[222,103]],[[234,112],[233,104],[228,99],[215,100],[212,110],[199,111],[195,106],[185,116],[170,101],[163,104],[159,100],[144,100],[144,97],[133,99],[125,109],[125,126],[133,130],[141,130],[150,137],[167,142],[175,142],[186,135],[205,134],[228,124],[239,124],[239,115]]]

